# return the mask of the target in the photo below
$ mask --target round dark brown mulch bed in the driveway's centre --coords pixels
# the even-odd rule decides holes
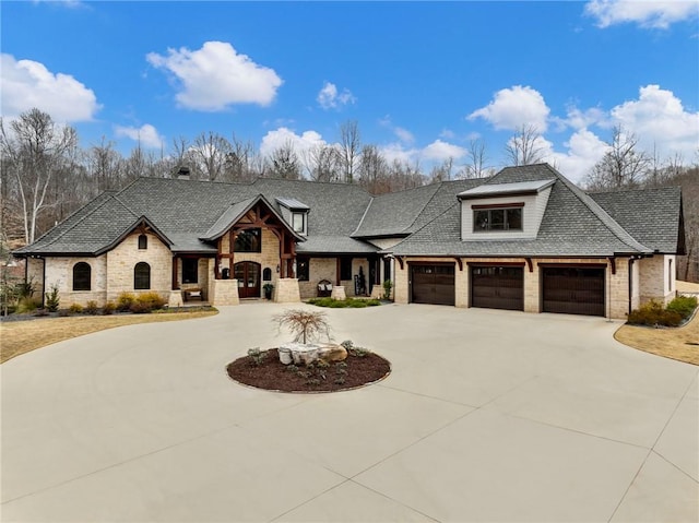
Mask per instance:
[[[316,365],[299,365],[295,371],[293,366],[280,361],[276,348],[264,350],[264,354],[259,366],[250,356],[230,362],[226,367],[228,376],[239,383],[269,391],[335,392],[374,383],[391,371],[391,364],[374,353],[365,356],[348,354],[344,361],[331,362],[324,369]]]

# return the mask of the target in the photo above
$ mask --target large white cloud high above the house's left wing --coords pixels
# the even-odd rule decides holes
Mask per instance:
[[[150,52],[146,60],[169,71],[180,82],[177,102],[190,109],[223,110],[233,104],[272,103],[282,79],[273,69],[258,66],[225,41],[206,41],[199,50],[168,49]]]

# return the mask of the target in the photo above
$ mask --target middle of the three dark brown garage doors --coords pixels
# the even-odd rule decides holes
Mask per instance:
[[[472,266],[471,306],[524,310],[524,268]]]

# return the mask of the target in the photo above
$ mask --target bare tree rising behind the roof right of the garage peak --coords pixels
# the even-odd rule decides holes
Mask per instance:
[[[652,161],[643,151],[638,151],[638,136],[627,133],[618,126],[612,132],[608,151],[597,162],[585,179],[589,189],[621,189],[637,187]]]

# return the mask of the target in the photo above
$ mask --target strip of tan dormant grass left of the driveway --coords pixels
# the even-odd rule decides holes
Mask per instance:
[[[9,359],[46,345],[92,332],[138,323],[191,320],[217,313],[218,311],[213,309],[166,314],[39,318],[26,321],[3,322],[0,323],[0,364],[4,364]]]

